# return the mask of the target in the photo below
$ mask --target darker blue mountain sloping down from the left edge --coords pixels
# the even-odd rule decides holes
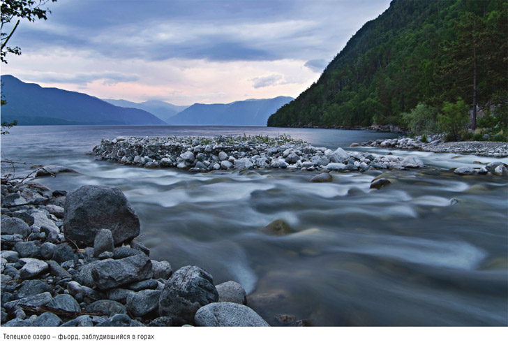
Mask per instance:
[[[2,122],[43,124],[165,124],[144,110],[121,108],[99,98],[56,88],[27,84],[12,75],[1,76]]]

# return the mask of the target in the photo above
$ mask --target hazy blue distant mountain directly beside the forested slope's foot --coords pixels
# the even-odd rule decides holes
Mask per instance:
[[[294,98],[278,96],[227,104],[195,103],[167,120],[168,124],[266,126],[268,117]]]

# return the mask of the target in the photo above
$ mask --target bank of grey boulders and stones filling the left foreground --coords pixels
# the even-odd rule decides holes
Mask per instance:
[[[2,326],[268,326],[240,284],[151,260],[117,188],[2,179],[1,197]]]

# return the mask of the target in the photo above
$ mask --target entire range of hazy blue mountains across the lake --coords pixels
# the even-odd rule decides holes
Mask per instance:
[[[227,104],[173,105],[163,101],[134,103],[106,99],[74,91],[40,87],[1,76],[1,121],[19,125],[59,124],[178,124],[266,126],[268,117],[294,98],[279,96]]]

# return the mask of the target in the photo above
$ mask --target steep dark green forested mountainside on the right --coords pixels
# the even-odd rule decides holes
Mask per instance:
[[[503,107],[507,126],[507,8],[506,0],[393,0],[267,124],[404,125],[419,103],[439,111],[461,97]]]

